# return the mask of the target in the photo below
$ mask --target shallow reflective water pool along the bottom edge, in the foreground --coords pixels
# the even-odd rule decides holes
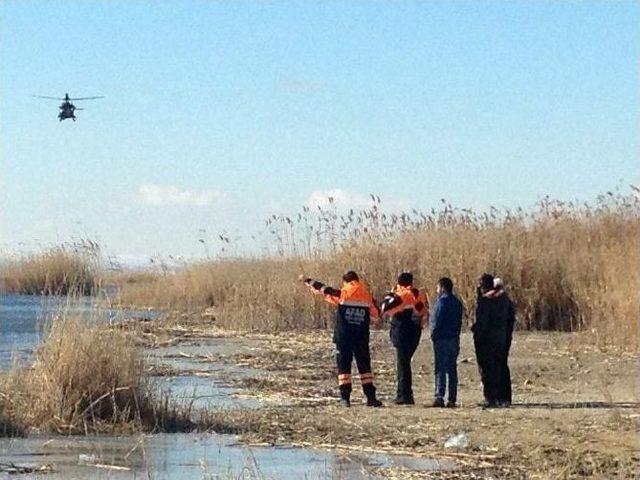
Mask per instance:
[[[0,463],[51,464],[51,479],[373,479],[380,467],[450,470],[448,462],[316,449],[246,447],[216,434],[0,439]],[[44,478],[44,477],[43,477]]]

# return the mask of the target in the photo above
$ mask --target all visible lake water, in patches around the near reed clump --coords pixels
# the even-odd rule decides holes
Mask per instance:
[[[82,315],[88,321],[117,322],[153,318],[148,311],[98,308],[92,299],[68,302],[61,297],[0,296],[0,369],[13,362],[27,364],[43,338],[52,315]],[[180,375],[158,377],[159,387],[196,408],[259,408],[257,400],[239,398],[224,376],[260,375],[260,371],[215,362],[201,362],[202,354],[238,351],[247,345],[234,339],[193,339],[178,346],[147,352],[151,363],[166,365]],[[193,371],[205,376],[191,375]],[[219,374],[219,375],[218,375]],[[247,447],[231,435],[156,434],[130,436],[35,436],[0,438],[0,465],[50,464],[53,471],[37,478],[51,479],[369,479],[376,467],[401,466],[413,470],[449,470],[455,465],[430,458],[400,455],[340,453],[286,447]],[[116,468],[113,468],[116,467]],[[7,475],[0,468],[0,479]],[[8,475],[7,475],[8,478]],[[11,478],[32,478],[31,475]]]

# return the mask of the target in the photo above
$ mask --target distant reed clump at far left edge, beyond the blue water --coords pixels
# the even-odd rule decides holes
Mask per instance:
[[[9,259],[0,289],[28,295],[89,295],[99,284],[100,247],[92,240],[63,244]]]

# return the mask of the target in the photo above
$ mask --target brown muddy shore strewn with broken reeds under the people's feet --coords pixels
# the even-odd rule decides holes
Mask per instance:
[[[354,384],[352,408],[341,409],[330,332],[239,334],[216,329],[199,316],[144,330],[147,345],[245,339],[248,348],[241,352],[200,360],[267,371],[227,381],[243,394],[269,401],[259,409],[207,412],[203,424],[239,433],[250,444],[395,452],[458,465],[444,472],[379,472],[390,478],[640,478],[640,356],[601,351],[576,334],[517,332],[510,360],[514,405],[488,410],[478,406],[482,390],[473,345],[463,334],[460,406],[453,410],[430,407],[433,351],[428,338],[413,361],[417,404],[393,405],[394,350],[388,332],[374,331],[374,373],[385,406],[365,407]],[[470,447],[444,448],[449,437],[463,432]]]

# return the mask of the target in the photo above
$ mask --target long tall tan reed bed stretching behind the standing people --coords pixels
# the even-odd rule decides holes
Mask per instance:
[[[519,327],[589,331],[601,344],[638,348],[640,197],[608,192],[593,204],[548,198],[535,208],[429,212],[304,207],[266,221],[271,254],[195,263],[124,285],[125,304],[199,310],[218,324],[286,330],[325,326],[329,308],[305,294],[299,273],[339,284],[355,269],[378,296],[409,270],[434,294],[450,276],[472,316],[477,279],[491,272],[516,301]]]

